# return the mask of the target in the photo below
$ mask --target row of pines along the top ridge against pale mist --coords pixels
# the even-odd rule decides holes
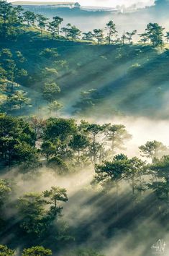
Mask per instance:
[[[106,23],[104,29],[96,28],[87,33],[81,33],[78,27],[68,23],[65,27],[61,27],[63,22],[62,17],[52,17],[49,20],[42,14],[35,14],[34,12],[24,11],[22,6],[13,7],[12,4],[5,0],[0,1],[0,33],[6,38],[8,36],[16,36],[19,30],[27,25],[28,27],[38,27],[40,33],[47,31],[50,33],[52,39],[59,38],[60,33],[64,35],[67,40],[87,40],[91,42],[101,43],[120,43],[122,45],[128,43],[132,44],[133,36],[137,34],[137,30],[124,32],[121,36],[117,33],[117,27],[113,20]],[[138,34],[140,36],[140,43],[152,43],[152,46],[163,46],[164,39],[168,42],[169,32],[164,32],[165,28],[157,23],[150,22],[145,33]]]

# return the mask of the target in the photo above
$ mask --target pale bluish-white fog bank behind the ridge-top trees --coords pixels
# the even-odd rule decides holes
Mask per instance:
[[[97,1],[98,2],[98,1]],[[103,1],[102,1],[103,2]],[[119,1],[118,1],[119,2]],[[129,4],[138,1],[127,1]],[[141,1],[142,2],[142,1]],[[145,1],[153,2],[153,1]],[[90,1],[91,3],[91,1]],[[153,3],[152,3],[153,4]],[[115,4],[116,5],[116,4]],[[160,25],[168,27],[168,8],[145,7],[143,9],[129,9],[128,11],[120,12],[91,12],[81,10],[62,9],[56,7],[24,7],[30,9],[33,12],[44,14],[45,16],[52,19],[52,17],[58,15],[63,17],[63,26],[68,23],[76,25],[81,31],[86,32],[93,30],[94,28],[103,28],[106,22],[114,20],[117,25],[119,34],[124,31],[131,31],[136,29],[138,33],[143,33],[146,25],[149,22],[159,22]],[[160,9],[159,9],[160,8]]]

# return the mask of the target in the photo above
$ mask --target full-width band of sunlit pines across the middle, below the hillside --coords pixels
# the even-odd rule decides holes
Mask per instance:
[[[128,158],[121,152],[132,135],[122,124],[91,124],[84,120],[78,123],[63,118],[44,120],[35,116],[24,120],[5,114],[1,114],[0,124],[0,156],[4,167],[19,166],[22,172],[27,172],[45,164],[59,174],[68,174],[92,165],[96,181],[104,186],[106,182],[115,182],[118,189],[119,183],[126,179],[132,184],[133,194],[137,182],[140,187],[142,176],[148,175],[155,178],[153,189],[168,199],[168,147],[156,140],[141,145],[142,157],[150,159],[151,164],[137,157]]]

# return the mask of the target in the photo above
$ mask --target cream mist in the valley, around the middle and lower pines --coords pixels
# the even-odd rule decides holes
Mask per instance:
[[[128,116],[106,120],[93,118],[88,121],[124,124],[132,134],[132,140],[125,145],[127,150],[117,153],[124,153],[129,157],[137,155],[140,158],[138,147],[147,140],[157,140],[169,145],[168,120],[136,119]],[[150,256],[155,253],[151,248],[152,244],[156,246],[159,239],[163,239],[166,244],[163,255],[168,256],[168,228],[158,219],[160,208],[155,197],[150,192],[145,192],[142,199],[142,195],[138,194],[136,201],[140,203],[135,206],[129,183],[122,183],[117,197],[114,189],[105,193],[100,186],[93,187],[93,176],[93,166],[65,176],[43,167],[30,174],[20,174],[15,168],[1,176],[1,179],[13,179],[17,184],[15,197],[26,192],[42,192],[52,186],[67,189],[69,200],[63,203],[63,220],[70,226],[76,241],[73,246],[63,248],[60,256],[68,255],[70,250],[77,248],[93,248],[106,256]],[[131,214],[133,219],[130,218]]]

